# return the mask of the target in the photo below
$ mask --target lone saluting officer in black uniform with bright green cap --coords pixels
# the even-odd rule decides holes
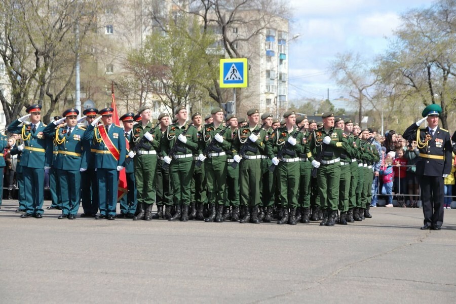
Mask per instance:
[[[451,141],[448,130],[439,127],[442,108],[428,105],[422,112],[423,119],[412,124],[402,135],[406,140],[416,140],[420,150],[416,162],[416,175],[421,186],[424,225],[422,230],[440,230],[443,224],[443,179],[451,173]],[[427,128],[419,128],[424,121]]]

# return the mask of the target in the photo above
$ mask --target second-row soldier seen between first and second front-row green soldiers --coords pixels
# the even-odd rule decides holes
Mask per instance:
[[[141,117],[139,117],[141,121]],[[168,113],[160,113],[158,120],[160,121],[160,133],[163,138],[163,133],[169,126],[170,120]],[[160,139],[161,140],[161,139]],[[171,209],[173,206],[173,195],[171,194],[171,182],[169,180],[169,171],[162,168],[163,157],[160,156],[160,147],[157,150],[157,177],[155,178],[156,196],[157,196],[157,213],[152,217],[154,219],[171,217]],[[163,215],[163,206],[165,206],[165,214]]]

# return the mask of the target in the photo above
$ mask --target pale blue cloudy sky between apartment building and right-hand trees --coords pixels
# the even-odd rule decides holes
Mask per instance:
[[[431,0],[291,0],[288,100],[348,97],[331,79],[329,66],[338,53],[375,58],[411,9],[428,8]]]

